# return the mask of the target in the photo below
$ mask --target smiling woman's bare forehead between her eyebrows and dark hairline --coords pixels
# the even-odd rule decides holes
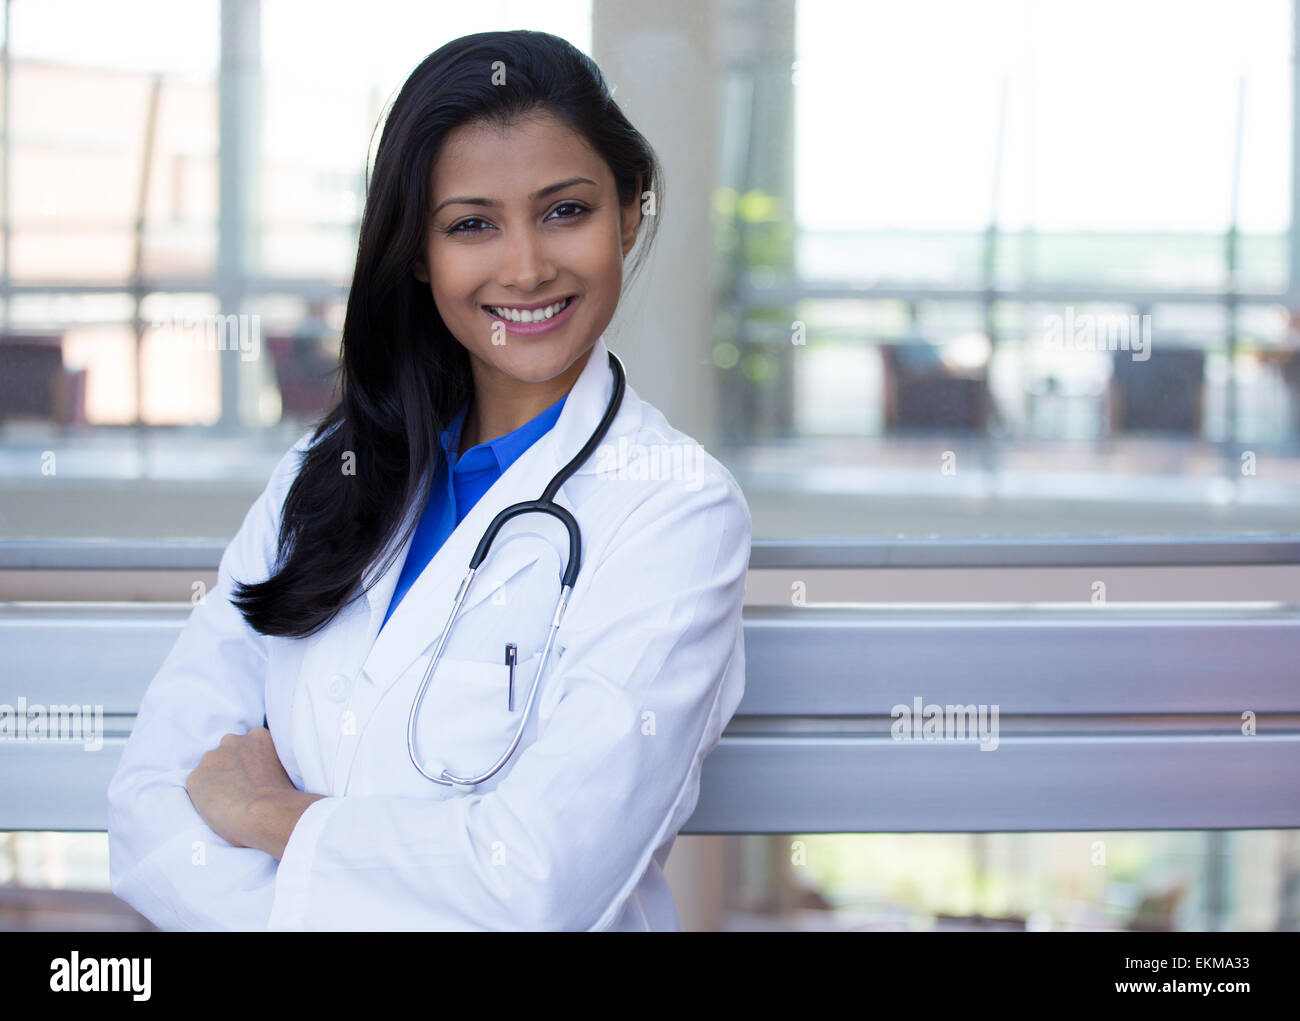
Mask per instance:
[[[474,122],[447,134],[429,170],[430,198],[437,204],[471,191],[528,195],[566,177],[589,177],[602,186],[614,182],[586,139],[550,114],[508,127]]]

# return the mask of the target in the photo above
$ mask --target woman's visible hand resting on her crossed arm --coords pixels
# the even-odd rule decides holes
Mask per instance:
[[[265,727],[228,734],[204,753],[185,787],[203,821],[235,847],[260,847],[261,834],[251,812],[255,801],[298,789],[280,765]]]

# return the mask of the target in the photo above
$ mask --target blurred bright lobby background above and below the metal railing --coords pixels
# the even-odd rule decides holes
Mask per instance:
[[[606,336],[755,538],[1300,532],[1295,3],[654,7],[4,0],[0,538],[229,540],[332,402],[396,90],[516,27],[594,56],[664,161]],[[1295,831],[675,865],[688,927],[1300,926]],[[147,923],[103,834],[10,832],[0,926]]]

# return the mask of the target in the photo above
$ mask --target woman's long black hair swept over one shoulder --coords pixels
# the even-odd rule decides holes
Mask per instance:
[[[363,594],[367,568],[428,497],[442,457],[438,436],[473,391],[468,352],[429,285],[411,272],[424,254],[430,169],[455,127],[504,127],[534,113],[554,114],[586,139],[608,164],[621,206],[651,192],[656,215],[642,217],[632,271],[644,261],[663,206],[659,160],[595,61],[538,31],[465,35],[425,57],[398,92],[367,181],[338,404],[312,433],[289,488],[274,572],[239,581],[231,598],[255,631],[304,637],[325,627]]]

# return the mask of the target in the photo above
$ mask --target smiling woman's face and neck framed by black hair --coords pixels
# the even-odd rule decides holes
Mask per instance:
[[[608,326],[640,206],[619,206],[604,160],[550,114],[451,131],[429,195],[424,259],[412,272],[469,352],[478,423],[508,432],[568,393]],[[569,297],[549,325],[500,311]]]

